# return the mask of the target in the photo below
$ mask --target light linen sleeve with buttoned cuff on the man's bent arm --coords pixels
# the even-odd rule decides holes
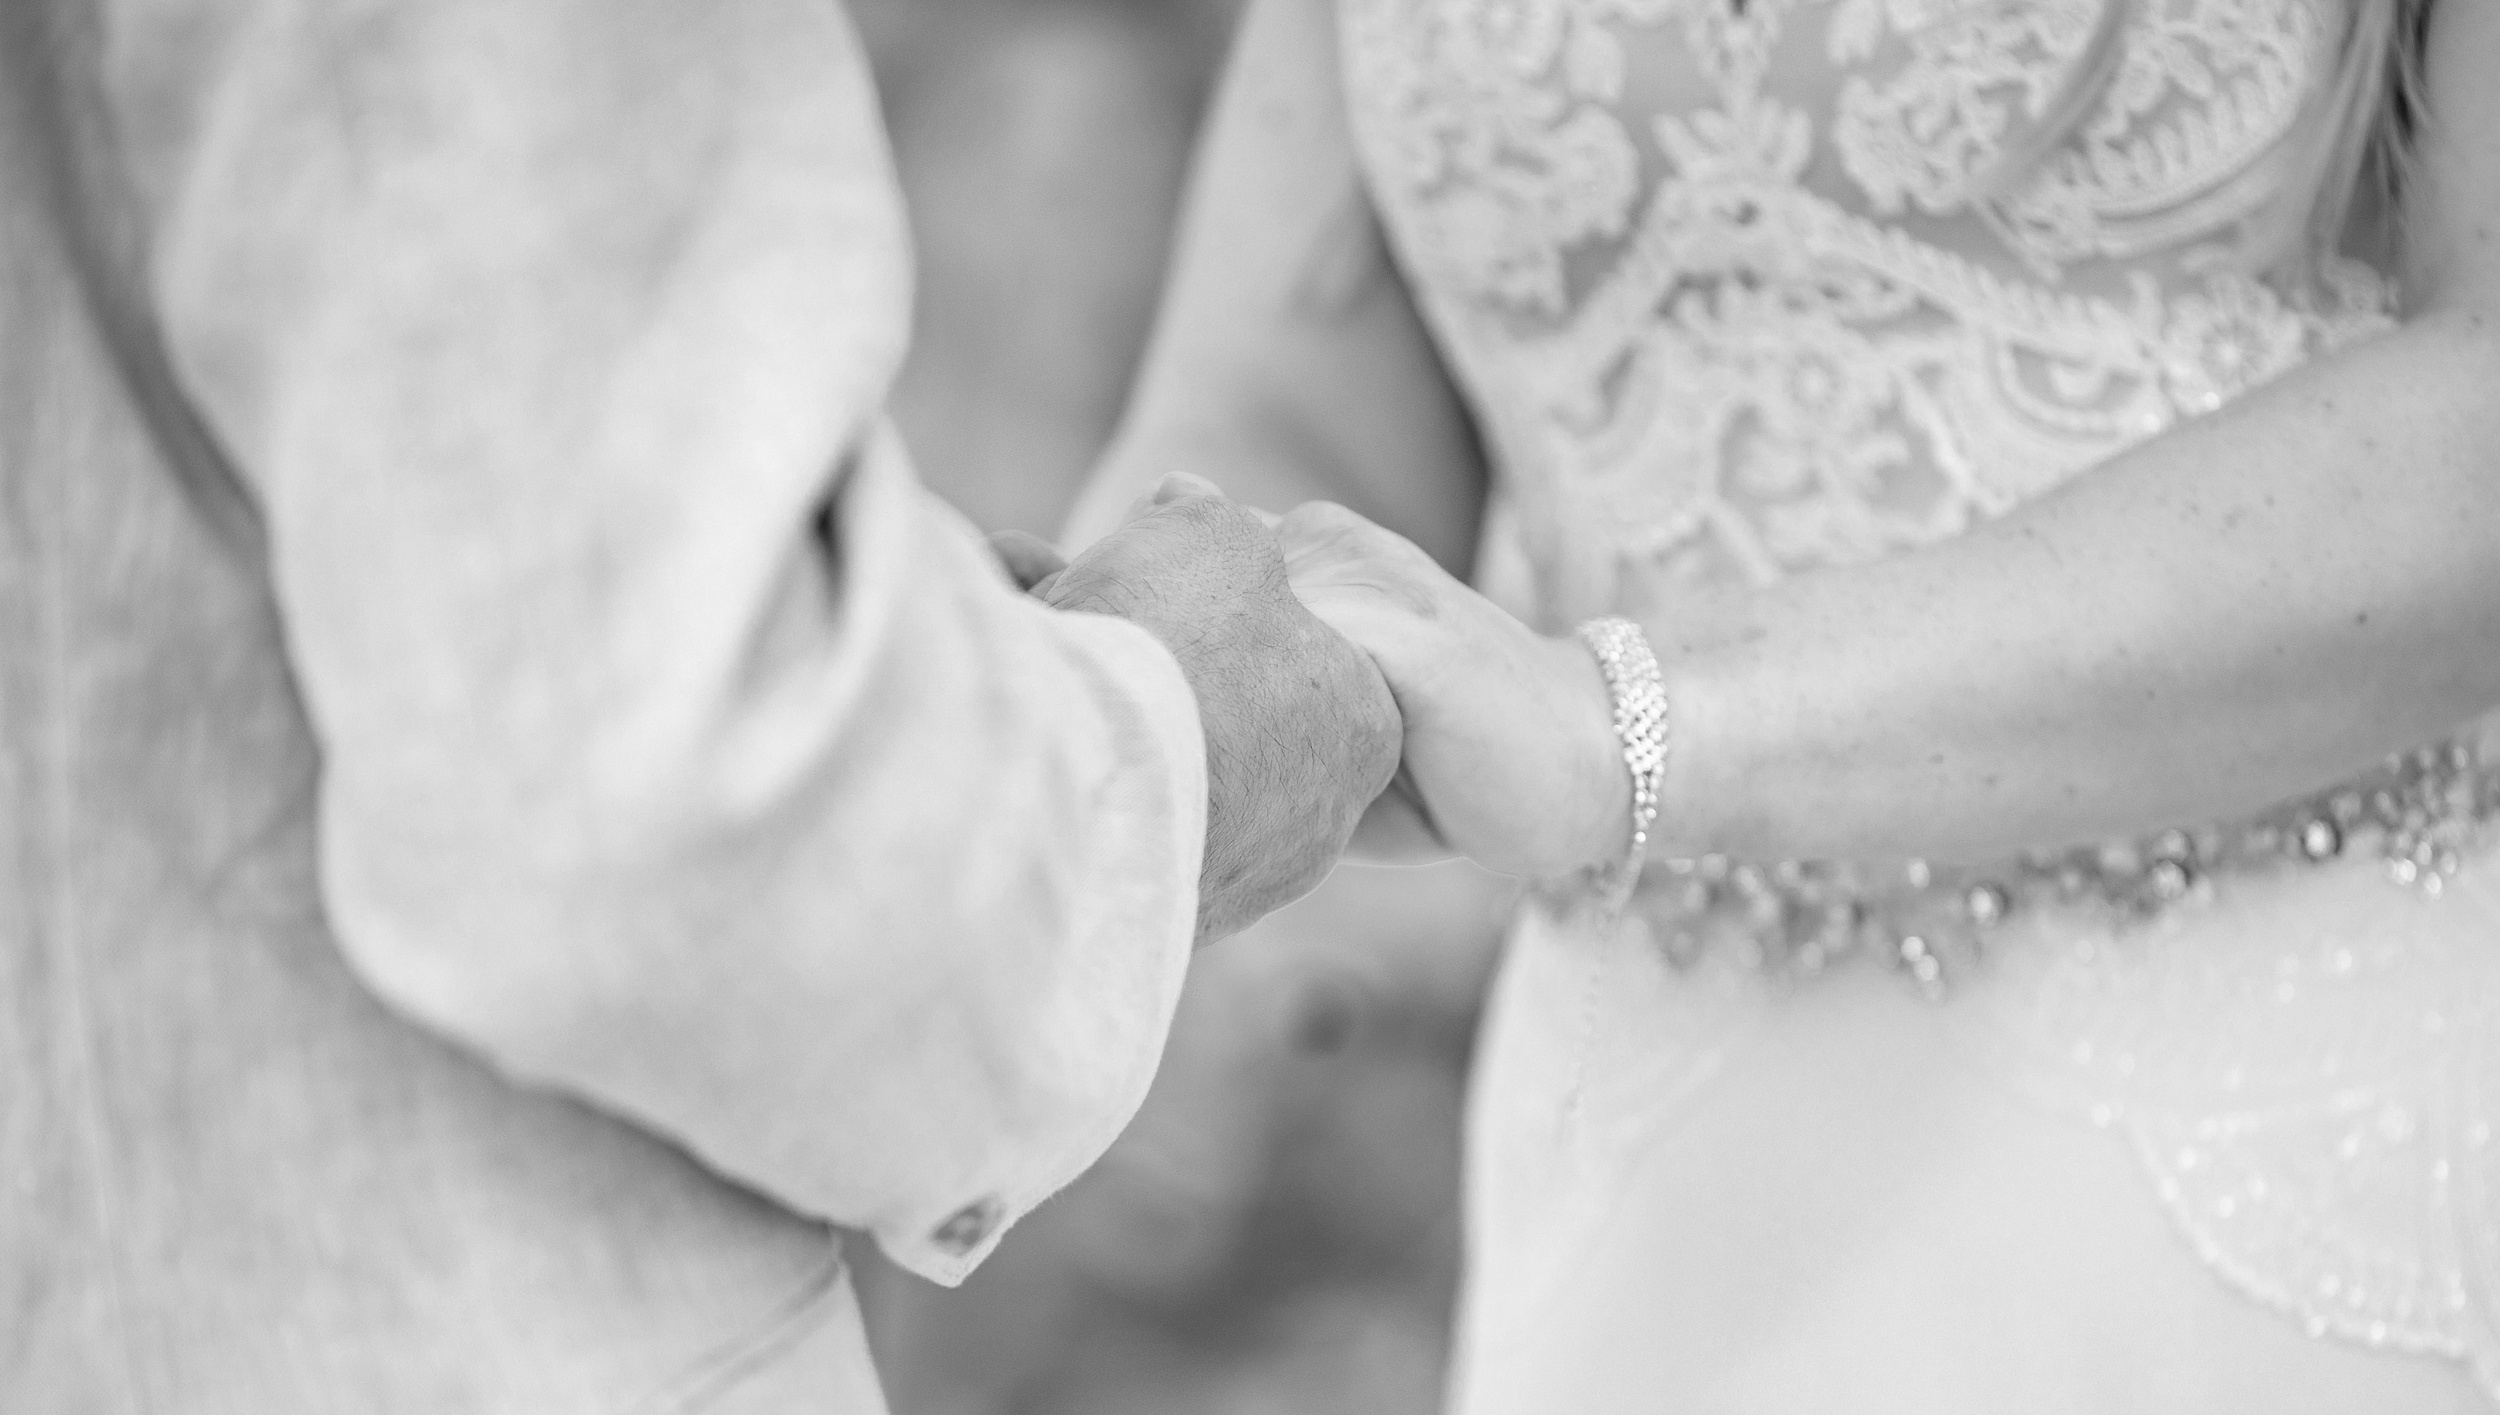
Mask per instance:
[[[1205,748],[1172,658],[1015,595],[882,425],[908,245],[840,10],[128,12],[185,18],[115,82],[350,960],[962,1278],[1145,1092]]]

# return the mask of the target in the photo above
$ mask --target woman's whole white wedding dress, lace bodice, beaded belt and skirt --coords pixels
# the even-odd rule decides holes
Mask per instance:
[[[2390,320],[2362,265],[2218,258],[2345,0],[2140,5],[1988,205],[2100,0],[1340,2],[1498,460],[1482,580],[1548,628],[1950,538]],[[2468,728],[2098,850],[1652,865],[1612,932],[1532,902],[1458,1410],[2482,1410],[2495,805]]]

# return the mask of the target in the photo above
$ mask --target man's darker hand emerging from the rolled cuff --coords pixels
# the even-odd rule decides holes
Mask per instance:
[[[1195,478],[1035,592],[1120,615],[1180,660],[1208,738],[1198,940],[1310,892],[1398,770],[1402,725],[1372,660],[1292,595],[1275,535]]]

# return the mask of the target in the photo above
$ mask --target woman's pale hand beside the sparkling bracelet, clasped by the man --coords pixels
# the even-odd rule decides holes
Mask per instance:
[[[1542,638],[1360,515],[1295,508],[1278,538],[1295,595],[1380,665],[1405,715],[1398,780],[1358,858],[1460,852],[1552,878],[1622,855],[1630,772],[1598,662]]]

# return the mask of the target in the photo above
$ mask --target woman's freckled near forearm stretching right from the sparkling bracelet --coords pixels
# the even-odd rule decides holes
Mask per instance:
[[[2500,705],[2500,330],[2428,315],[1965,538],[1655,605],[1665,845],[2002,858],[2292,798]]]

